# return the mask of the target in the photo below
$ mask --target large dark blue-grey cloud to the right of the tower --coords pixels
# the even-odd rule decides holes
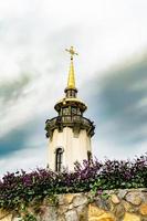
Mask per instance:
[[[147,139],[147,63],[146,57],[107,72],[95,83],[94,102],[103,134],[118,144]],[[98,110],[97,110],[98,109]]]

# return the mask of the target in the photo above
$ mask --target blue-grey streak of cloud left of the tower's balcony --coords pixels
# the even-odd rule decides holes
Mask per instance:
[[[18,126],[0,139],[0,158],[7,157],[15,151],[35,146],[44,145],[45,143],[45,119],[33,118],[24,125]]]

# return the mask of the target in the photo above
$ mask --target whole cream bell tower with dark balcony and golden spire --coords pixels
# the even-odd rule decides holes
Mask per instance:
[[[66,51],[71,55],[67,86],[65,96],[59,101],[54,108],[57,116],[45,123],[49,138],[49,167],[54,171],[63,168],[74,169],[74,162],[90,160],[92,157],[91,137],[94,135],[93,122],[85,118],[86,105],[77,98],[73,56],[77,55],[73,46]]]

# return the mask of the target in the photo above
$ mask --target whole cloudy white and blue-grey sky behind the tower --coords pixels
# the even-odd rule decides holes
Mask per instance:
[[[147,151],[147,1],[0,1],[0,175],[46,167],[45,120],[64,96],[74,45],[93,155]]]

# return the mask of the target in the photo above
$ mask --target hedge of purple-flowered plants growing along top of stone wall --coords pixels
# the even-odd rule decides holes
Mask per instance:
[[[21,210],[59,193],[147,188],[147,155],[129,160],[75,162],[74,171],[36,169],[8,172],[0,180],[0,208]]]

